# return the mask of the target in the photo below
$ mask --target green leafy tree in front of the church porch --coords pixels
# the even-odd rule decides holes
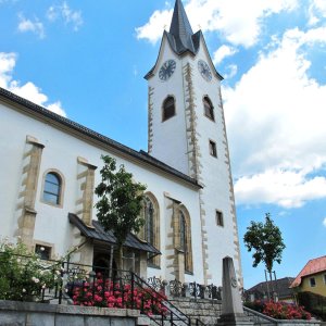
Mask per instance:
[[[102,155],[104,166],[100,174],[101,183],[95,192],[99,197],[96,203],[97,216],[104,230],[112,230],[116,238],[118,266],[122,266],[122,246],[127,235],[138,233],[145,223],[140,217],[146,186],[133,181],[133,174],[126,172],[125,166],[116,168],[115,159]],[[113,248],[110,256],[112,267]]]

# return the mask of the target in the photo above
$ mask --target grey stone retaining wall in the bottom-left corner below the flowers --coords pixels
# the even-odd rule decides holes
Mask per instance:
[[[129,309],[104,309],[0,300],[1,326],[136,326],[138,325],[138,317],[139,311]]]

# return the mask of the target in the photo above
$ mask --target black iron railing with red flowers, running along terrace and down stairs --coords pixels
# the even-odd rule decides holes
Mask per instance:
[[[33,258],[15,255],[14,262],[26,271]],[[1,263],[1,253],[0,253]],[[127,308],[137,309],[146,314],[156,325],[203,325],[199,319],[191,321],[179,309],[172,304],[162,287],[141,279],[130,271],[118,271],[92,265],[83,265],[70,261],[35,262],[38,277],[17,279],[17,274],[2,275],[9,281],[9,291],[21,291],[14,300],[54,302],[59,304],[75,304],[84,306]],[[10,267],[10,266],[9,266]],[[47,283],[42,278],[47,275]],[[28,287],[32,285],[33,287]],[[25,292],[24,292],[25,290]],[[10,293],[9,293],[10,294]],[[14,294],[14,293],[13,293]],[[7,300],[14,298],[4,297]],[[3,299],[3,298],[2,298]]]

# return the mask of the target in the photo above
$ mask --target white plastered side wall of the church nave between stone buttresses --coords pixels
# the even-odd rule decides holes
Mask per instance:
[[[92,165],[98,166],[96,172],[95,185],[100,181],[99,171],[102,166],[100,159],[101,154],[110,153],[116,158],[117,164],[125,164],[126,170],[134,174],[137,181],[141,181],[148,186],[148,191],[151,191],[158,199],[161,217],[161,269],[149,268],[149,276],[155,275],[165,278],[165,204],[164,193],[168,192],[172,198],[179,200],[190,212],[192,223],[192,252],[193,261],[201,261],[200,239],[196,233],[200,228],[199,218],[199,200],[198,190],[188,186],[183,181],[176,180],[175,177],[154,167],[148,166],[146,163],[139,162],[136,159],[128,159],[118,152],[110,152],[109,148],[99,145],[86,142],[85,140],[74,137],[68,133],[58,129],[50,123],[37,121],[32,116],[20,113],[18,111],[9,109],[4,105],[0,106],[0,139],[1,152],[3,154],[1,170],[1,180],[8,185],[8,191],[1,196],[0,210],[3,226],[0,234],[14,236],[14,229],[17,228],[17,221],[13,217],[17,202],[17,189],[22,177],[22,160],[24,155],[24,147],[26,135],[35,137],[45,146],[42,150],[40,173],[38,178],[38,187],[36,193],[35,210],[36,225],[34,239],[45,243],[51,243],[54,247],[55,254],[64,254],[73,244],[67,214],[76,213],[76,201],[78,199],[78,164],[77,158],[82,156]],[[14,126],[14,133],[11,129]],[[4,139],[7,139],[4,141]],[[9,139],[9,140],[8,140]],[[43,175],[47,171],[57,170],[64,178],[64,195],[63,204],[53,206],[45,203],[42,197]],[[95,197],[95,202],[97,198]],[[92,217],[96,218],[93,210]],[[195,264],[195,279],[202,279],[201,265]]]

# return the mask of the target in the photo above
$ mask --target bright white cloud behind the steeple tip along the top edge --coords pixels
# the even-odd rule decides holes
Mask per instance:
[[[297,5],[298,0],[190,0],[186,11],[195,30],[220,30],[230,43],[250,47],[259,39],[264,17]],[[146,25],[136,28],[137,37],[158,41],[171,16],[172,10],[155,11]]]

